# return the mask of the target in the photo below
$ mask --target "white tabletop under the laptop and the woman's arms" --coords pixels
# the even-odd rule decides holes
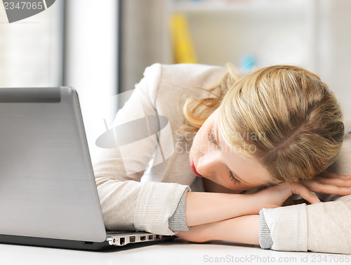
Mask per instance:
[[[348,261],[347,261],[348,259]],[[217,242],[172,242],[102,252],[0,244],[0,264],[351,264],[350,255],[277,252],[258,246]]]

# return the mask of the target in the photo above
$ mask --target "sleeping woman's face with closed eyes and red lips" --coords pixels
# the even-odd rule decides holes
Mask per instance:
[[[251,157],[239,155],[225,143],[219,129],[218,108],[206,119],[190,149],[190,167],[204,177],[232,190],[249,190],[271,183],[265,168]]]

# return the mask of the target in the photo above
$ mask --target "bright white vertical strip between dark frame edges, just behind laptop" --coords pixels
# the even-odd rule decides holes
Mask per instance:
[[[95,139],[105,131],[104,118],[113,109],[106,102],[117,94],[117,3],[105,0],[65,1],[64,84],[78,91],[81,110],[94,160]],[[105,116],[106,110],[109,112]]]

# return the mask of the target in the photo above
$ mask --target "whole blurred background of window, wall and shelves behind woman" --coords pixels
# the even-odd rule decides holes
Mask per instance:
[[[350,0],[56,0],[9,24],[1,2],[0,87],[74,87],[92,159],[116,111],[106,102],[152,63],[299,65],[350,117],[350,10]]]

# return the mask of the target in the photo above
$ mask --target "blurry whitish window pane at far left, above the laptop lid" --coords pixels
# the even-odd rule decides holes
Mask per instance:
[[[37,15],[8,23],[0,3],[0,87],[61,84],[62,6],[57,0]]]

